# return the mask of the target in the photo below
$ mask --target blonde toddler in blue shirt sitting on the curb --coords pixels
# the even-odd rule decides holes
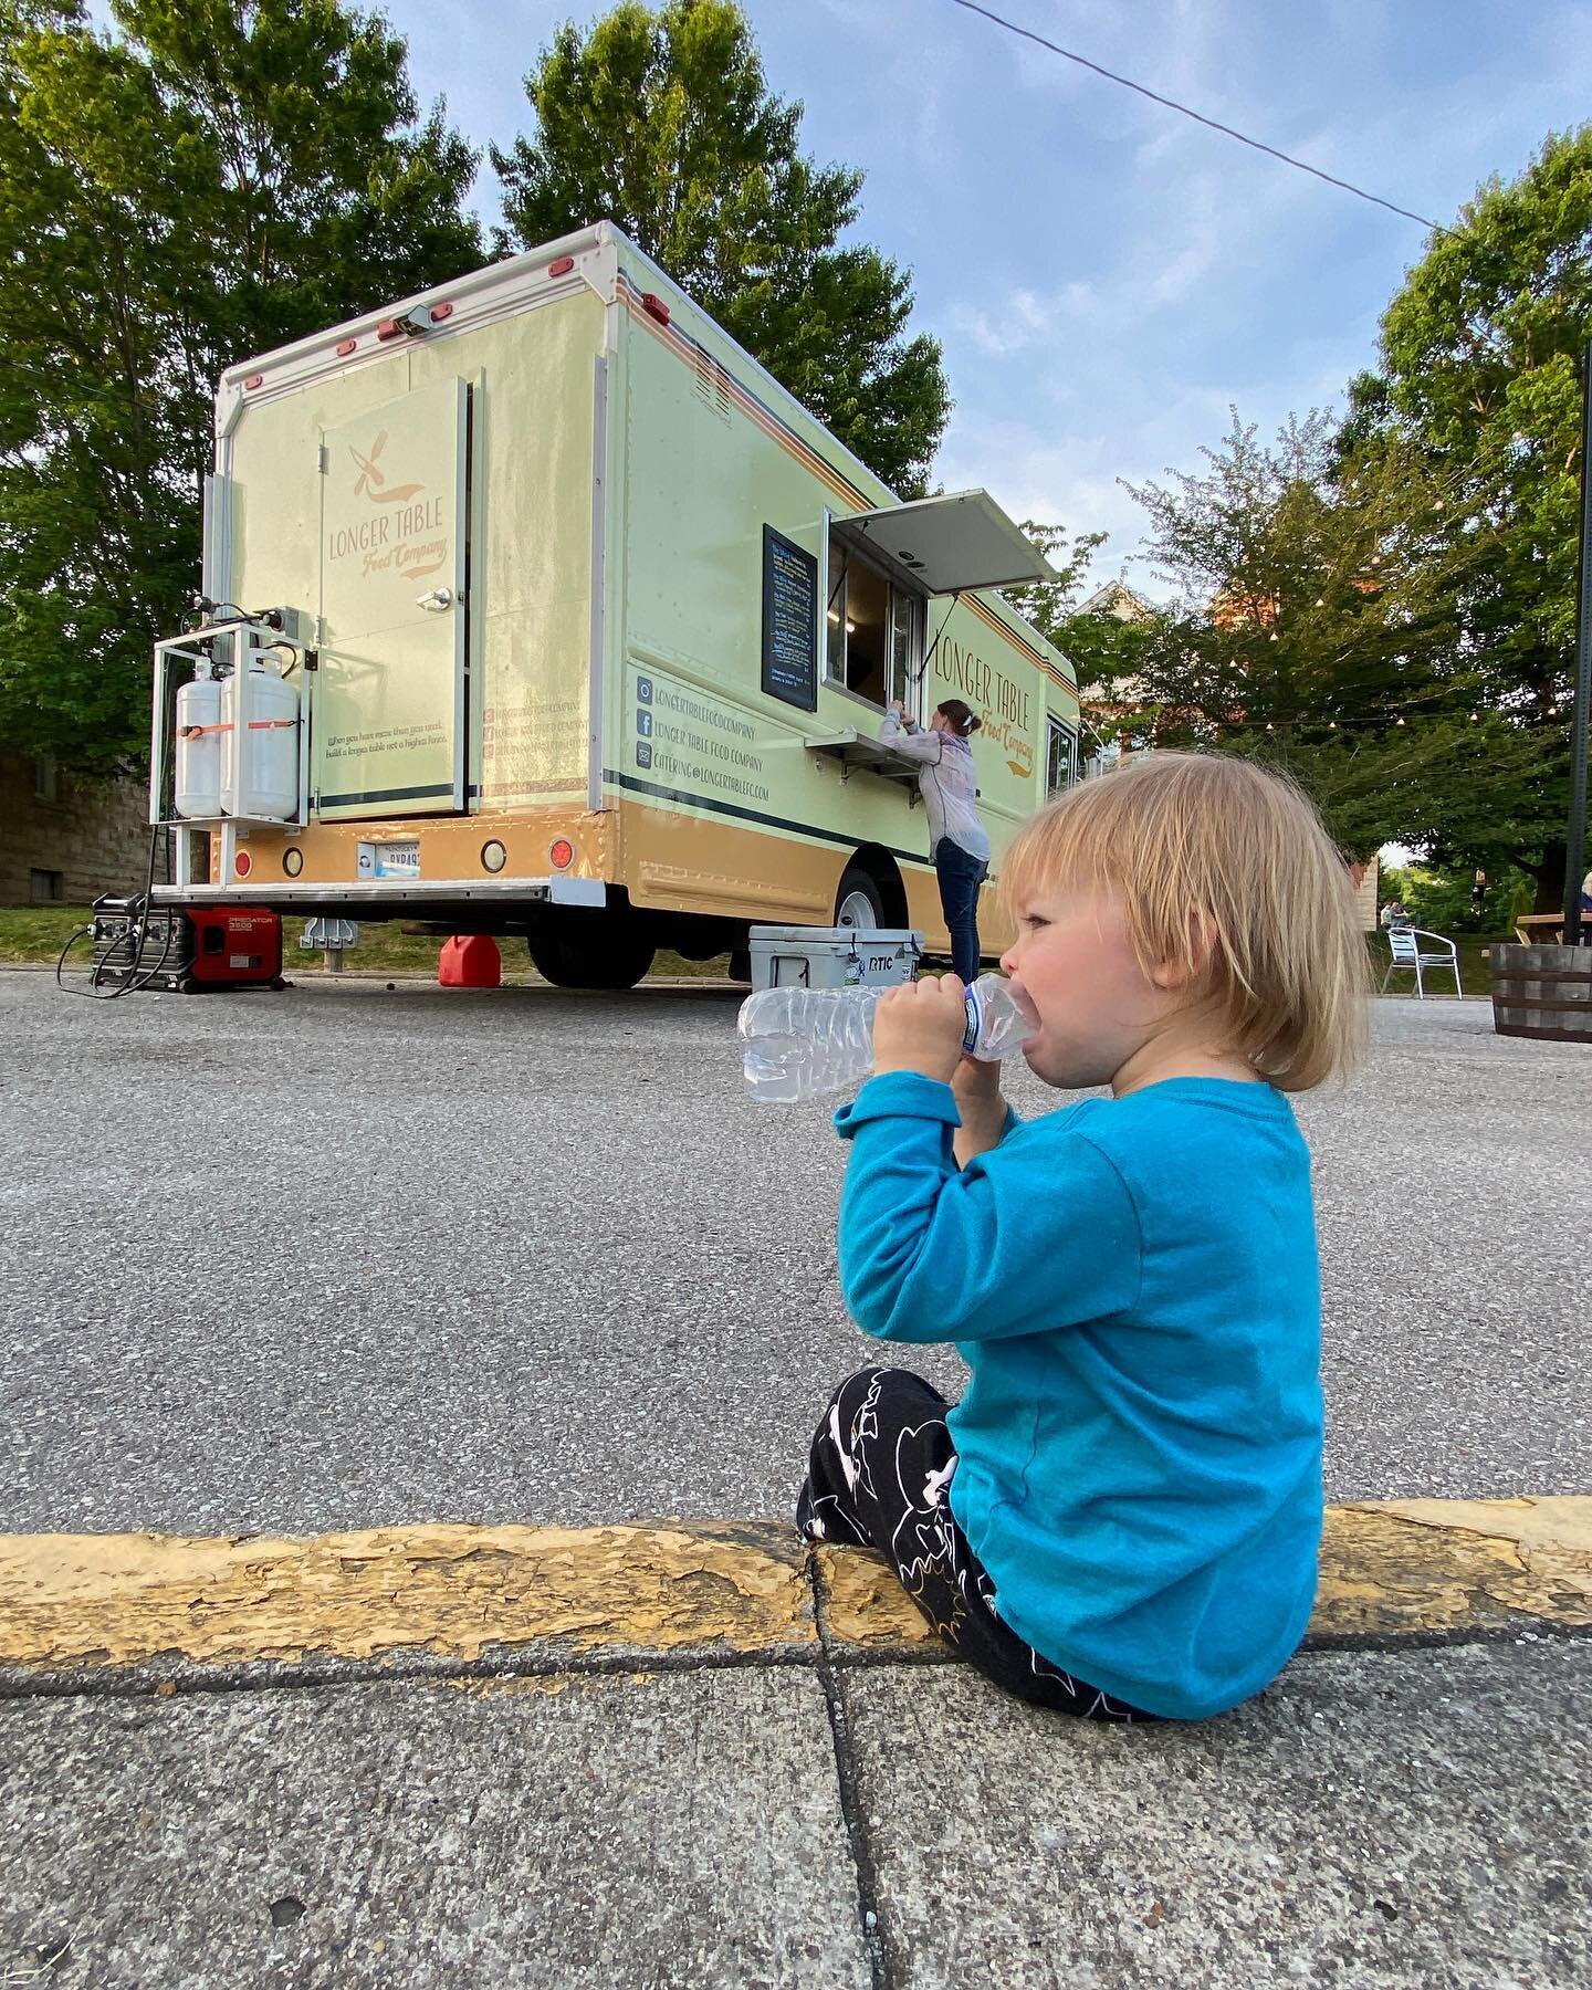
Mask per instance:
[[[890,989],[840,1280],[882,1341],[955,1343],[949,1405],[842,1383],[796,1522],[882,1550],[965,1660],[1096,1721],[1202,1719],[1268,1686],[1315,1600],[1321,1292],[1288,1093],[1345,1069],[1367,957],[1309,802],[1236,754],[1154,754],[1035,816],[1001,866],[1061,1091],[1019,1122],[961,1057],[953,977]]]

